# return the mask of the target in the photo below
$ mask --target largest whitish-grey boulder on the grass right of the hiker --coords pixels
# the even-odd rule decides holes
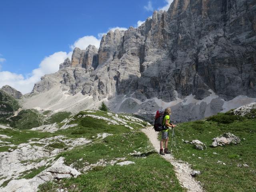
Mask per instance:
[[[220,137],[213,138],[212,140],[213,140],[212,145],[211,145],[212,147],[240,143],[240,139],[230,132],[224,133]]]

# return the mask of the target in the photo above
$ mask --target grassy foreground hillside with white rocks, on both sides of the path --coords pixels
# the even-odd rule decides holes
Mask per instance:
[[[201,172],[195,180],[207,192],[255,191],[254,106],[178,124],[178,153],[166,155],[178,167],[155,152],[143,133],[152,127],[129,114],[87,110],[32,130],[1,125],[0,191],[186,191],[177,174],[188,165]],[[226,132],[240,143],[210,147]],[[186,142],[196,139],[204,150]]]

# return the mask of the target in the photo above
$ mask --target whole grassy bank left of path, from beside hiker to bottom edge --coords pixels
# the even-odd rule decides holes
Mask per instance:
[[[134,150],[141,155],[132,155]],[[185,191],[179,184],[172,165],[161,158],[145,134],[138,130],[108,136],[87,146],[76,147],[62,152],[65,164],[82,169],[95,164],[100,159],[110,162],[116,158],[126,158],[135,162],[128,166],[95,167],[78,178],[64,179],[60,183],[48,182],[41,185],[41,192],[68,188],[68,191]],[[144,157],[144,158],[142,158]],[[81,170],[80,170],[81,171]],[[73,186],[76,186],[75,188]]]

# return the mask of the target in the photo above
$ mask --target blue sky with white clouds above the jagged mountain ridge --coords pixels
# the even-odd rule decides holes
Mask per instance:
[[[111,28],[136,27],[172,0],[4,0],[0,2],[0,87],[30,92],[72,48],[99,45]]]

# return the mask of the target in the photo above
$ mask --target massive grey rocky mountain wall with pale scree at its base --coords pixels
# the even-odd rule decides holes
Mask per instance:
[[[255,0],[174,0],[138,28],[108,32],[98,50],[75,48],[24,107],[79,112],[105,100],[115,112],[172,106],[188,121],[254,102],[255,12]]]

